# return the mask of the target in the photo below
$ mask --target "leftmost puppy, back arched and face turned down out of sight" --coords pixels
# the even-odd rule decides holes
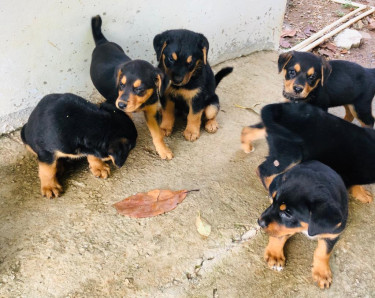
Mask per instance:
[[[62,191],[56,178],[60,157],[87,156],[94,176],[107,178],[110,170],[104,161],[121,167],[135,146],[137,130],[114,105],[98,107],[74,94],[49,94],[22,127],[21,138],[38,156],[42,195],[53,198]]]

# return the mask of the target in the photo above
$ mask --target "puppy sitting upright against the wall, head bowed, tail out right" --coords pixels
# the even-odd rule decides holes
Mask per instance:
[[[166,136],[173,130],[175,107],[188,112],[183,133],[186,140],[199,138],[203,114],[207,119],[206,131],[214,133],[219,127],[216,115],[220,105],[215,89],[233,68],[223,68],[214,76],[207,62],[208,48],[208,40],[203,34],[189,30],[168,30],[154,38],[159,68],[171,80],[161,98],[163,118],[160,127]]]

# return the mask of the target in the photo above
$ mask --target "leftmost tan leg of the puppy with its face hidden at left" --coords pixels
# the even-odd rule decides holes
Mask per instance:
[[[40,190],[42,195],[48,199],[58,197],[62,191],[62,187],[57,181],[57,161],[49,165],[44,162],[39,162],[39,178],[40,178]]]

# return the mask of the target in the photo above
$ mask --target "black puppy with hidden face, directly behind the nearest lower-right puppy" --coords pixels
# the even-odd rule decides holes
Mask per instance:
[[[358,184],[375,182],[375,131],[351,124],[309,104],[281,103],[261,111],[269,154],[258,167],[268,188],[273,178],[294,165],[318,160],[336,171],[363,203],[372,196]]]

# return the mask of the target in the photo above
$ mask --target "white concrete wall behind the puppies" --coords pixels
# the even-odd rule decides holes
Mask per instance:
[[[201,32],[211,65],[278,47],[286,0],[1,0],[0,134],[20,127],[46,94],[89,98],[91,16],[132,58],[156,64],[153,37],[167,29]]]

